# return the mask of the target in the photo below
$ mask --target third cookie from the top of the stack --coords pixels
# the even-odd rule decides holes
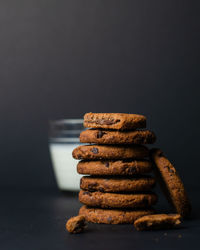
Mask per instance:
[[[148,157],[149,150],[145,146],[83,145],[72,152],[75,159],[143,159]]]

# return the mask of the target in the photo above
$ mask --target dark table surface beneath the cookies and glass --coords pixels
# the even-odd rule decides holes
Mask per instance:
[[[198,189],[193,214],[180,229],[137,232],[133,225],[89,224],[82,234],[65,231],[65,221],[80,208],[77,194],[55,189],[27,188],[0,191],[0,249],[198,249],[200,219]],[[196,196],[197,195],[197,196]],[[161,199],[160,209],[166,209]]]

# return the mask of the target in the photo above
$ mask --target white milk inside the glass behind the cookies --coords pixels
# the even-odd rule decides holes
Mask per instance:
[[[79,144],[50,143],[50,153],[58,187],[61,190],[80,190],[82,175],[76,171],[78,161],[72,157],[72,151]]]

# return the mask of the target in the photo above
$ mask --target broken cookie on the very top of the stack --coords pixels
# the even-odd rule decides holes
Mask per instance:
[[[130,130],[146,127],[146,117],[123,113],[86,113],[84,127]]]

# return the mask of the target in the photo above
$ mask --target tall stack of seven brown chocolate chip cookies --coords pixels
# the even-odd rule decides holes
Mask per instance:
[[[79,214],[87,221],[106,224],[133,223],[153,214],[157,196],[151,189],[155,179],[149,175],[152,164],[149,150],[141,144],[155,142],[146,127],[146,118],[136,114],[87,113],[80,141],[90,143],[74,149],[81,160]]]

